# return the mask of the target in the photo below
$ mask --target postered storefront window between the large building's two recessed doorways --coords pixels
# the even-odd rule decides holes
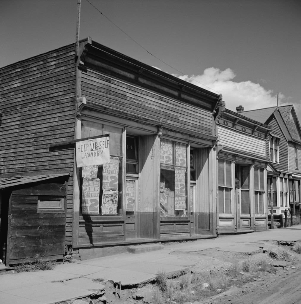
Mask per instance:
[[[187,145],[161,140],[160,214],[161,217],[188,216]]]

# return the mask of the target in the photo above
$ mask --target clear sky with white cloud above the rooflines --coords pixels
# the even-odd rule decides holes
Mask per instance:
[[[74,43],[77,2],[2,0],[0,67]],[[300,16],[300,0],[81,0],[79,37],[221,93],[233,111],[276,106],[279,92],[301,123]]]

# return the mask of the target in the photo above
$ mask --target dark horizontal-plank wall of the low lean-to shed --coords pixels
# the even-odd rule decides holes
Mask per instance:
[[[41,184],[12,191],[9,264],[36,254],[47,259],[62,259],[65,253],[65,204],[56,212],[37,212],[39,195],[65,198],[65,184]],[[65,200],[65,199],[64,199]]]

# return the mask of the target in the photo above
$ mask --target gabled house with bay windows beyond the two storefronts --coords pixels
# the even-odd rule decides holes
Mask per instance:
[[[272,184],[273,213],[284,214],[285,209],[294,212],[300,206],[301,179],[301,129],[294,107],[270,107],[240,114],[272,126],[269,136],[268,188],[270,194]],[[270,208],[268,211],[271,213]]]

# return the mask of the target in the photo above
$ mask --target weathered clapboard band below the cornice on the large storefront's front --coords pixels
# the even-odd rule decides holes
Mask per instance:
[[[106,112],[124,112],[127,116],[166,123],[194,133],[212,135],[212,113],[168,98],[124,81],[87,69],[82,72],[82,95],[101,105]],[[180,115],[179,115],[180,113]]]

